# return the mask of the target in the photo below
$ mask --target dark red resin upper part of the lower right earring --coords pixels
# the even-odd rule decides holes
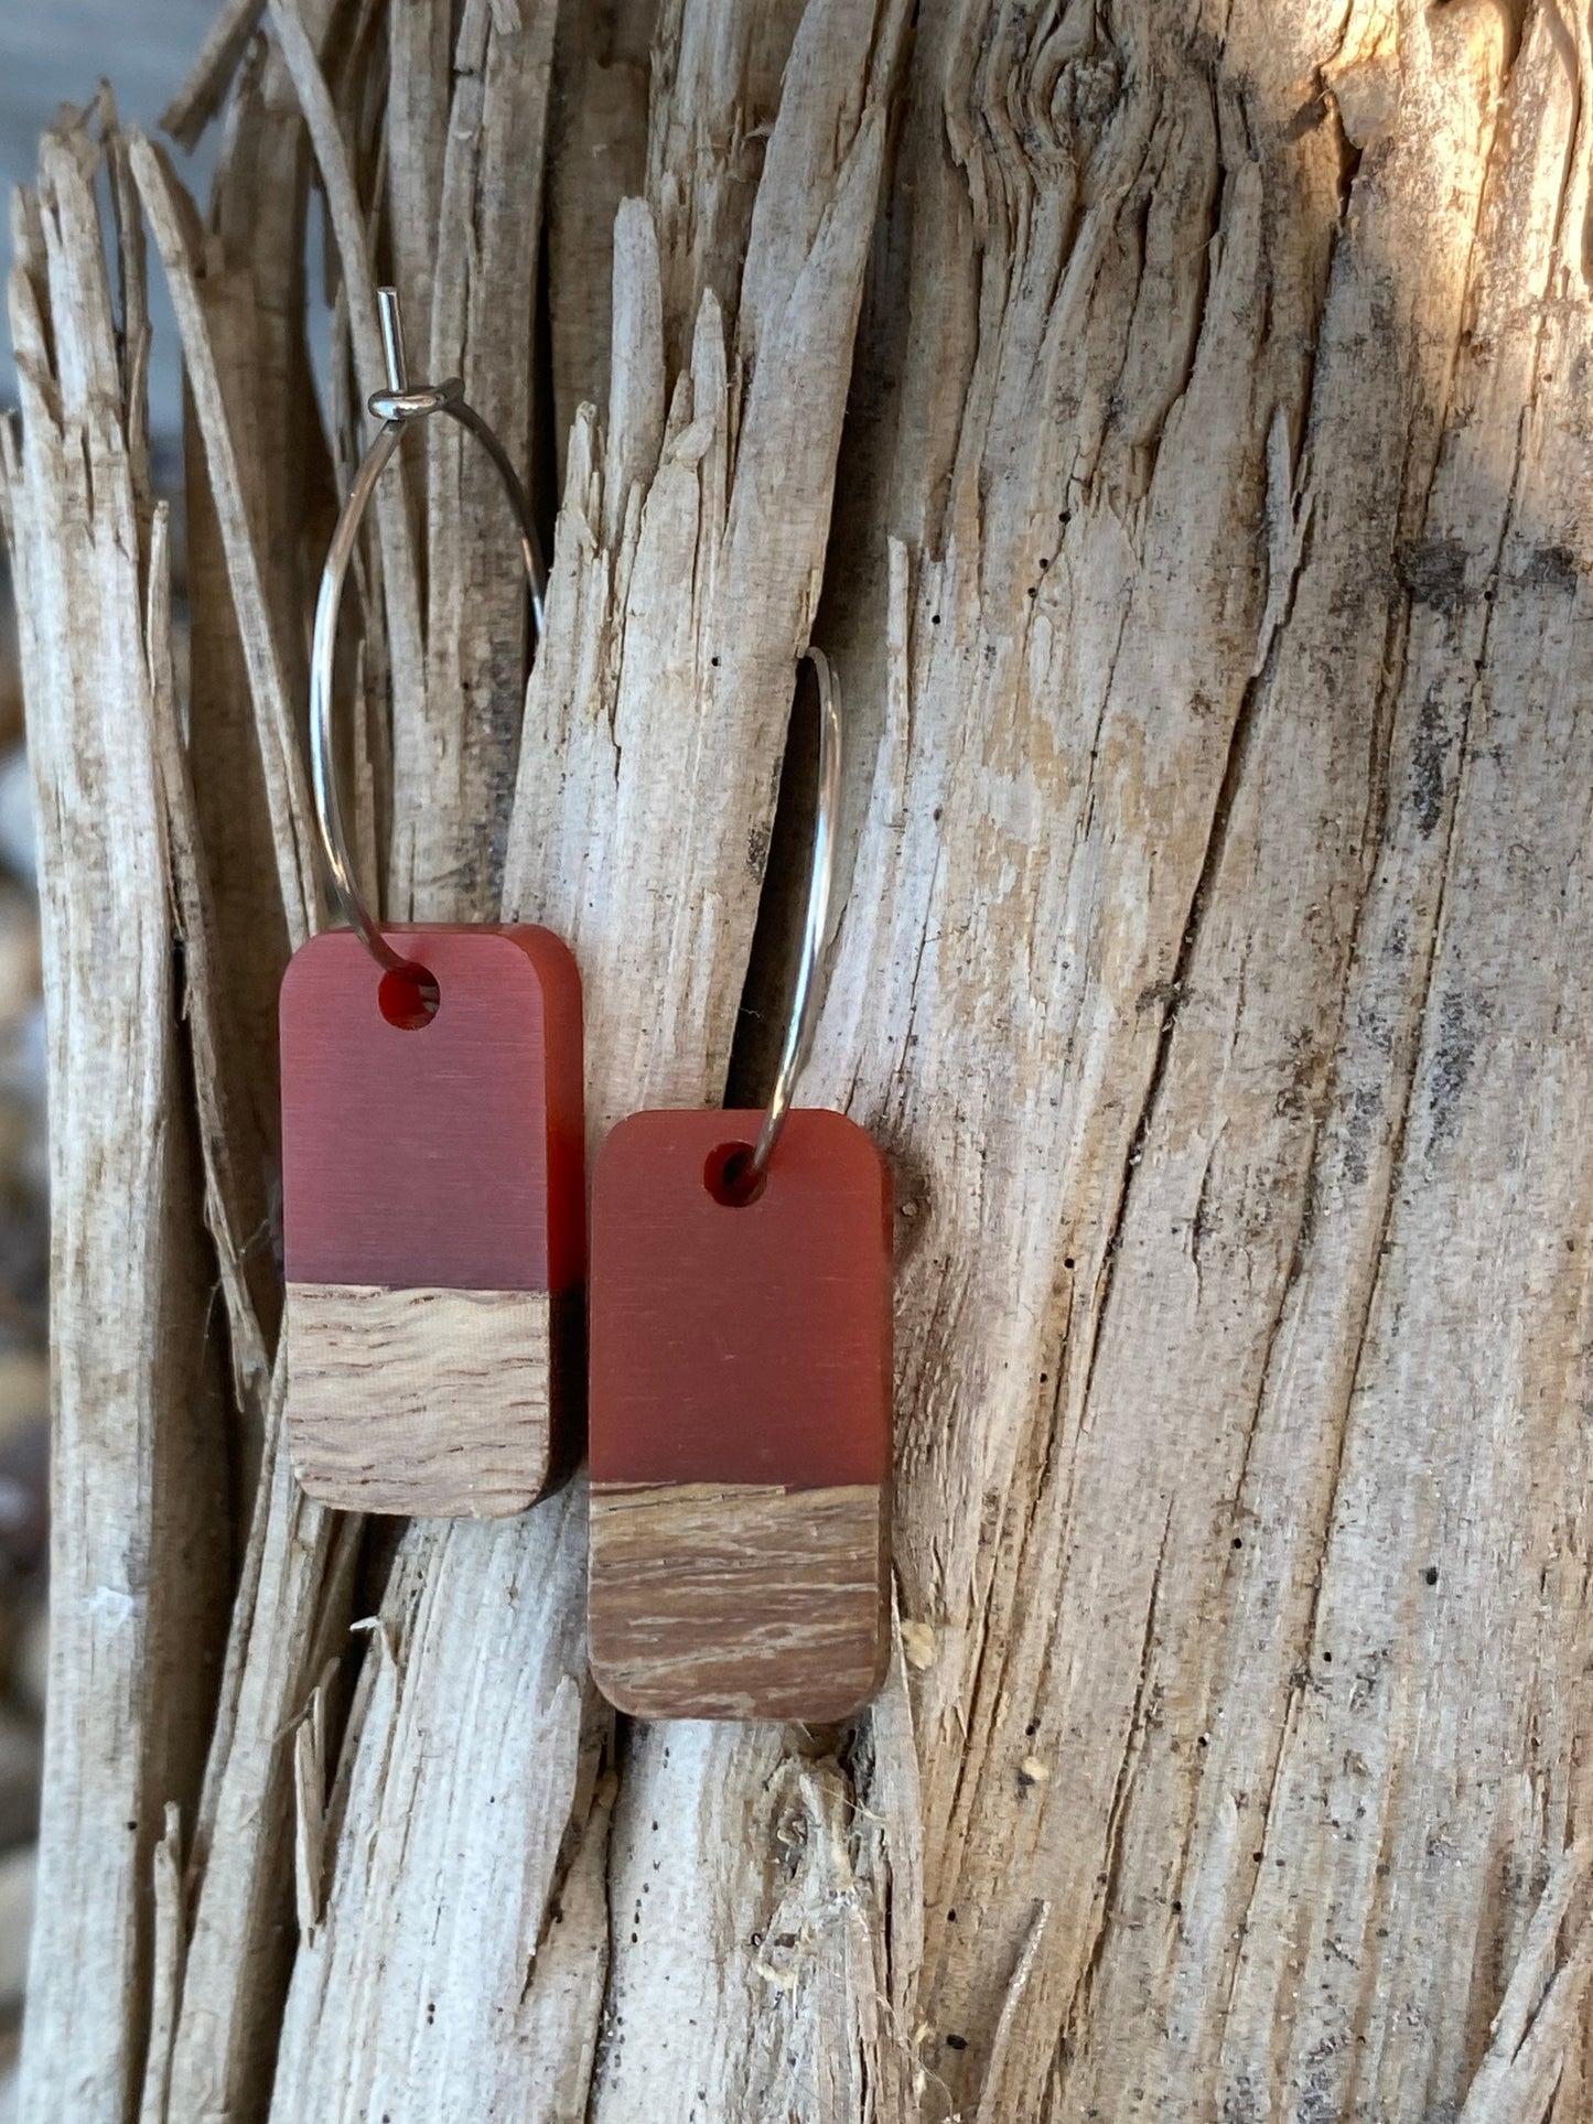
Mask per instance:
[[[633,1113],[593,1177],[595,1483],[886,1483],[890,1172],[856,1121],[790,1113],[756,1202],[716,1200],[760,1113]]]

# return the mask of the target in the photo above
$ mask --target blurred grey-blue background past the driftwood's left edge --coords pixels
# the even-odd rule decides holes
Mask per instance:
[[[123,117],[155,130],[215,13],[215,0],[51,0],[0,6],[0,266],[11,274],[17,185],[64,102],[100,81]],[[181,159],[181,157],[178,157]],[[164,297],[159,276],[151,293]],[[17,404],[11,331],[0,333],[0,410]],[[174,467],[181,378],[174,333],[155,314],[151,423],[157,478]],[[166,484],[166,482],[161,482]],[[11,571],[0,548],[0,2124],[15,2113],[15,2056],[28,1971],[38,1767],[49,1667],[49,1153],[32,796]],[[64,2120],[66,2124],[66,2120]]]

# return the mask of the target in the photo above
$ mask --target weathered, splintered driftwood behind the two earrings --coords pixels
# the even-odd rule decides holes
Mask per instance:
[[[117,293],[83,125],[17,223],[59,1353],[25,2118],[1572,2124],[1587,25],[259,13],[176,106],[225,106],[208,232],[108,115]],[[185,726],[138,204],[193,397]],[[839,667],[807,1096],[896,1168],[901,1614],[843,1733],[616,1725],[580,1485],[370,1544],[350,1606],[361,1531],[285,1466],[270,1015],[378,259],[561,506],[520,729],[499,497],[448,438],[384,491],[363,847],[395,915],[571,939],[595,1138],[756,1075],[809,631]]]

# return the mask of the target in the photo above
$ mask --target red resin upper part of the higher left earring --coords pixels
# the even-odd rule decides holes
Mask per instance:
[[[580,975],[544,928],[395,926],[438,983],[412,1030],[353,930],[282,979],[289,1283],[567,1291],[586,1260]],[[393,990],[389,990],[389,1007]]]

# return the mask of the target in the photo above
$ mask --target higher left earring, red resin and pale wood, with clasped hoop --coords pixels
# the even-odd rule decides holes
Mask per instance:
[[[406,425],[446,414],[497,465],[535,637],[525,491],[459,382],[412,391],[382,289],[382,423],[331,537],[310,658],[310,765],[331,894],[282,979],[287,1438],[304,1489],[414,1517],[523,1512],[580,1457],[580,975],[546,928],[387,924],[338,803],[331,661],[359,523]]]

